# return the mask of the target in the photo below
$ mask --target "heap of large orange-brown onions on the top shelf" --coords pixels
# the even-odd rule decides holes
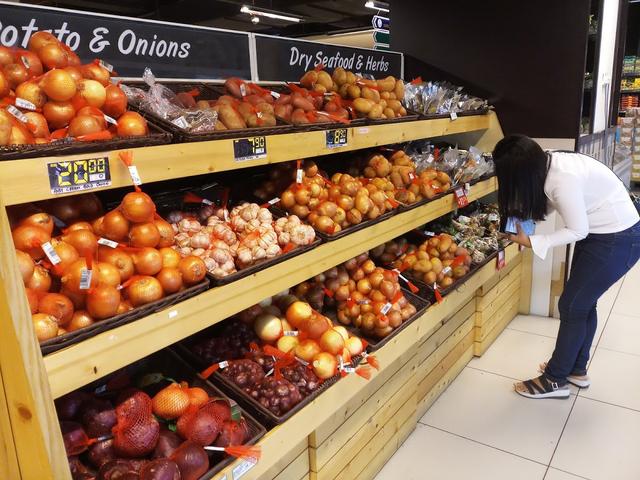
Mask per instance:
[[[112,67],[80,58],[49,32],[28,50],[0,46],[0,145],[109,140],[149,133],[111,83]]]

